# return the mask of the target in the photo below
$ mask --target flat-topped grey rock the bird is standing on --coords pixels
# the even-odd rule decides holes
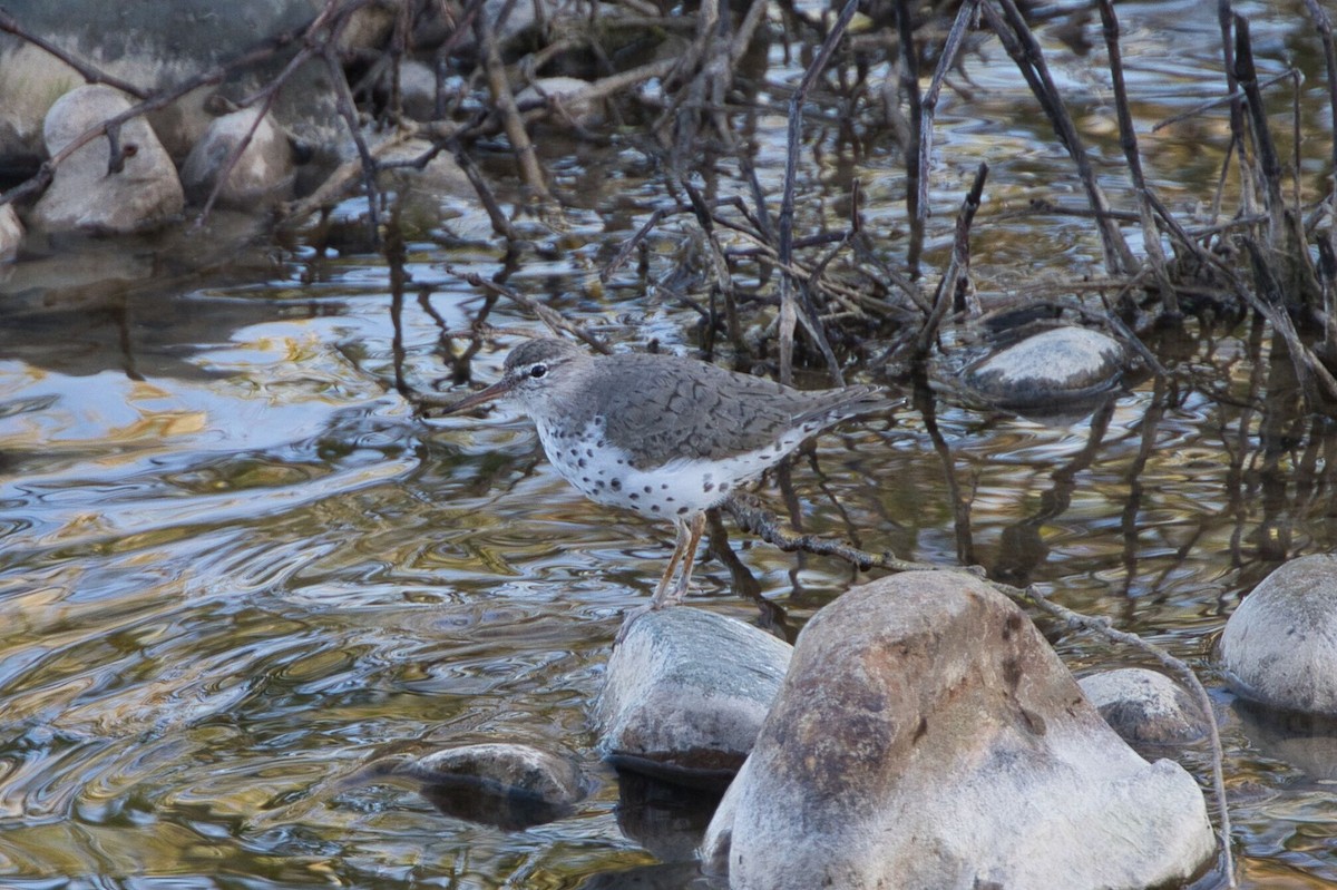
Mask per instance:
[[[620,768],[722,786],[751,750],[790,652],[705,609],[642,615],[608,659],[595,703],[600,750]]]

